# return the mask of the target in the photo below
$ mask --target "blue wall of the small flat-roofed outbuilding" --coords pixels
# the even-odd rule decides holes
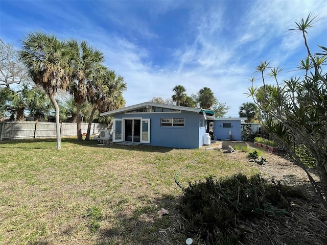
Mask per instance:
[[[223,128],[223,124],[231,124],[231,128]],[[241,120],[214,120],[214,139],[229,139],[229,130],[233,140],[241,141]]]

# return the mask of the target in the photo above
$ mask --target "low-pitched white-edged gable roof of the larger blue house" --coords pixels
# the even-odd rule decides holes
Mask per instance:
[[[136,109],[139,109],[139,108],[150,107],[150,106],[160,107],[160,108],[167,108],[167,109],[172,109],[172,110],[199,112],[199,113],[203,113],[204,116],[206,116],[206,115],[214,116],[215,115],[215,111],[213,111],[213,110],[207,110],[207,109],[201,109],[201,108],[192,108],[192,107],[186,107],[186,106],[175,106],[175,105],[166,105],[166,104],[144,102],[144,103],[141,103],[141,104],[137,104],[137,105],[133,105],[133,106],[127,106],[127,107],[120,108],[120,109],[113,110],[113,111],[106,111],[106,112],[100,113],[100,116],[113,116],[114,114],[123,113],[123,112],[126,112],[126,111],[136,110]]]

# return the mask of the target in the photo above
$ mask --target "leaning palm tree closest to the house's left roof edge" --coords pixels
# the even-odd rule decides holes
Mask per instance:
[[[89,97],[89,101],[94,105],[88,122],[88,128],[85,140],[89,140],[92,120],[96,110],[100,112],[119,109],[125,106],[126,101],[123,97],[123,91],[127,89],[127,84],[122,76],[116,76],[113,70],[106,69],[100,74],[95,86],[95,95]]]

